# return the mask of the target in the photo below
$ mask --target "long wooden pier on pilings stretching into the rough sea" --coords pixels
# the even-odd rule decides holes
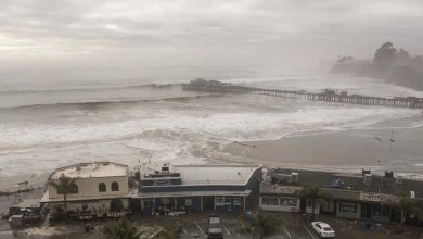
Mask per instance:
[[[423,109],[423,98],[416,97],[396,97],[396,98],[382,98],[382,97],[369,97],[361,95],[348,96],[346,91],[336,93],[334,90],[324,90],[321,93],[312,93],[304,90],[274,90],[274,89],[261,89],[254,87],[245,87],[232,84],[225,84],[216,80],[197,79],[190,84],[182,85],[183,90],[218,92],[218,93],[254,93],[266,95],[272,97],[290,98],[290,99],[303,99],[309,101],[326,101],[337,103],[349,104],[363,104],[363,105],[381,105],[392,108],[411,108]]]

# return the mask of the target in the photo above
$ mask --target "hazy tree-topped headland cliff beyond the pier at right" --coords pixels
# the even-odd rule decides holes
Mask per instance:
[[[402,48],[397,50],[392,42],[383,43],[373,60],[357,61],[352,56],[341,56],[330,72],[381,78],[423,90],[423,56],[412,56]]]

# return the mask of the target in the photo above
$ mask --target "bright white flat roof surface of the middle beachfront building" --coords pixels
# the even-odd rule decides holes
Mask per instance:
[[[174,165],[180,173],[182,185],[244,185],[260,165]]]

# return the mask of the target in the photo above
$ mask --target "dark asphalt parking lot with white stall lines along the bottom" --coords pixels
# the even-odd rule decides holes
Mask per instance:
[[[142,231],[141,238],[152,239],[154,236],[165,229],[172,230],[180,227],[182,229],[181,237],[184,239],[193,238],[207,238],[207,219],[208,213],[204,214],[190,214],[187,216],[140,216],[133,217],[132,221],[137,222]],[[251,230],[248,230],[248,221],[243,215],[228,215],[221,216],[223,238],[252,238]],[[278,230],[270,239],[318,239],[319,236],[313,231],[310,225],[310,221],[302,214],[283,214],[274,213],[274,218],[278,222]],[[406,239],[406,238],[421,238],[422,229],[408,228],[406,234],[389,234],[387,229],[383,231],[376,231],[375,229],[369,229],[367,231],[360,231],[358,225],[351,221],[342,221],[333,217],[320,216],[317,221],[322,221],[330,224],[335,232],[336,238],[343,239]],[[80,239],[81,237],[87,239],[104,239],[100,234],[104,222],[94,223],[95,230],[90,234],[84,232],[82,225],[55,225],[50,228],[29,228],[23,231],[17,231],[18,238],[34,238],[34,239]],[[63,230],[63,231],[62,231]],[[62,232],[61,232],[62,231]],[[61,232],[54,235],[52,232]],[[12,231],[0,231],[0,238],[15,238],[16,235]]]

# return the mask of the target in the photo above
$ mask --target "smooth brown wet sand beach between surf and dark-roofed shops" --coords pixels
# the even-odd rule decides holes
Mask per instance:
[[[405,127],[405,124],[407,121],[383,122],[361,129],[307,131],[277,140],[232,143],[225,151],[266,166],[355,172],[372,168],[420,177],[423,175],[423,127]]]

